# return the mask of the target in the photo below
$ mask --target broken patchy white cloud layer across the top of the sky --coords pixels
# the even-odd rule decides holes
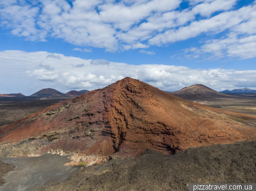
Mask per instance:
[[[188,8],[180,10],[182,2],[74,0],[71,6],[65,0],[1,1],[0,25],[12,35],[27,40],[59,38],[109,52],[146,49],[200,35],[206,36],[202,43],[207,46],[211,40],[214,46],[217,41],[221,43],[236,34],[237,43],[241,49],[245,47],[246,56],[234,49],[236,43],[227,44],[222,55],[255,57],[249,47],[254,50],[256,45],[243,41],[256,35],[255,2],[237,9],[238,0],[189,0]],[[91,49],[77,47],[74,51],[91,52]],[[210,48],[202,47],[202,51],[209,52]]]

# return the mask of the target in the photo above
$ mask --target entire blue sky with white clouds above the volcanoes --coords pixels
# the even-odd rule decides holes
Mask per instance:
[[[256,1],[0,0],[0,93],[256,89]]]

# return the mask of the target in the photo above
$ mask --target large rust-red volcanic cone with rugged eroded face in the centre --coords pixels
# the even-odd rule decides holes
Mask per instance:
[[[221,111],[124,78],[2,126],[0,154],[59,149],[138,156],[147,148],[168,154],[256,140],[255,128],[256,116]],[[26,142],[31,147],[23,147]]]

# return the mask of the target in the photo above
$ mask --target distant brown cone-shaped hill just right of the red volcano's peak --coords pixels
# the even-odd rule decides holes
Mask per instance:
[[[196,98],[233,98],[230,95],[215,91],[205,85],[195,84],[189,87],[184,87],[179,91],[168,92],[183,99],[196,99]]]

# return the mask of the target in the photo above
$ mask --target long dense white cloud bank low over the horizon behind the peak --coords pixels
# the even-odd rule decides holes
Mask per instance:
[[[185,66],[157,64],[130,65],[65,55],[59,55],[61,60],[53,61],[45,59],[47,55],[47,52],[0,52],[0,81],[4,82],[2,87],[11,88],[13,92],[16,92],[17,86],[24,87],[24,84],[26,87],[37,89],[52,87],[63,92],[74,87],[93,90],[124,77],[131,77],[168,91],[179,90],[193,84],[204,84],[215,90],[256,88],[256,70],[191,69]],[[73,67],[70,63],[83,67]],[[13,69],[10,70],[10,67]],[[29,88],[27,92],[34,93]]]

